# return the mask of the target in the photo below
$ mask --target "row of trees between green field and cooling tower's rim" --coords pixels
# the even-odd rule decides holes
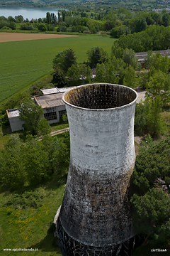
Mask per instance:
[[[96,82],[124,82],[130,87],[135,86],[137,59],[133,50],[123,50],[121,58],[116,58],[114,53],[109,56],[103,48],[98,47],[91,48],[86,54],[87,61],[77,63],[77,57],[72,49],[58,53],[53,60],[55,73],[52,82],[58,87],[88,83],[92,80],[93,70]]]

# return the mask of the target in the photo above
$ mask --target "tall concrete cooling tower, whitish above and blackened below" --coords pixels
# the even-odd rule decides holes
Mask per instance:
[[[70,163],[57,219],[63,255],[130,255],[135,245],[128,188],[136,100],[135,90],[106,83],[64,93]]]

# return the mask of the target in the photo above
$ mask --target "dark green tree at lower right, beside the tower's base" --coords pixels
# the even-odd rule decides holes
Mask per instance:
[[[165,242],[170,238],[170,198],[158,188],[150,188],[144,196],[132,197],[135,206],[135,228],[149,240]]]

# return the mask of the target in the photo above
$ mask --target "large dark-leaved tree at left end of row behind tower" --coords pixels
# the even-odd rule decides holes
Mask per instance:
[[[72,49],[63,50],[62,52],[57,53],[53,60],[53,68],[55,70],[60,68],[64,73],[67,73],[72,64],[77,64],[77,57]]]

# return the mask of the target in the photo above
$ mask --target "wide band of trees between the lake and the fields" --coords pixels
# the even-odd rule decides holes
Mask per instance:
[[[8,19],[3,16],[1,18],[4,21],[1,22],[0,28],[8,26],[8,21],[13,23],[25,22],[31,26],[30,28],[40,30],[43,27],[42,31],[45,29],[46,31],[54,31],[57,26],[58,32],[96,33],[109,31],[113,37],[145,31],[147,27],[153,25],[168,27],[170,22],[169,13],[165,10],[158,14],[154,11],[129,11],[123,8],[116,11],[101,9],[97,12],[94,10],[93,12],[59,10],[58,18],[54,13],[47,12],[45,18],[36,18],[31,21],[28,21],[28,18],[24,21],[21,15],[15,18],[11,16]],[[40,28],[38,23],[41,24]],[[21,26],[21,29],[26,29],[26,26]]]

